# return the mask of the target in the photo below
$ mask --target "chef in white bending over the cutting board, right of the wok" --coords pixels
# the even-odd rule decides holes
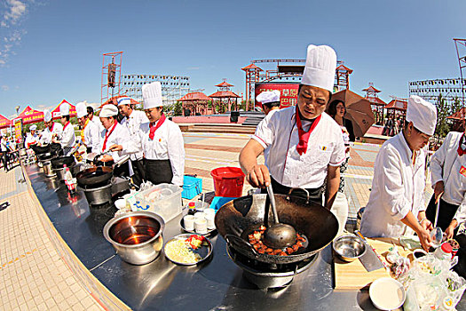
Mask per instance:
[[[425,151],[435,131],[437,109],[419,96],[407,103],[402,132],[385,141],[375,158],[372,191],[362,214],[361,233],[368,237],[399,237],[407,227],[430,247],[432,224],[425,218]]]

